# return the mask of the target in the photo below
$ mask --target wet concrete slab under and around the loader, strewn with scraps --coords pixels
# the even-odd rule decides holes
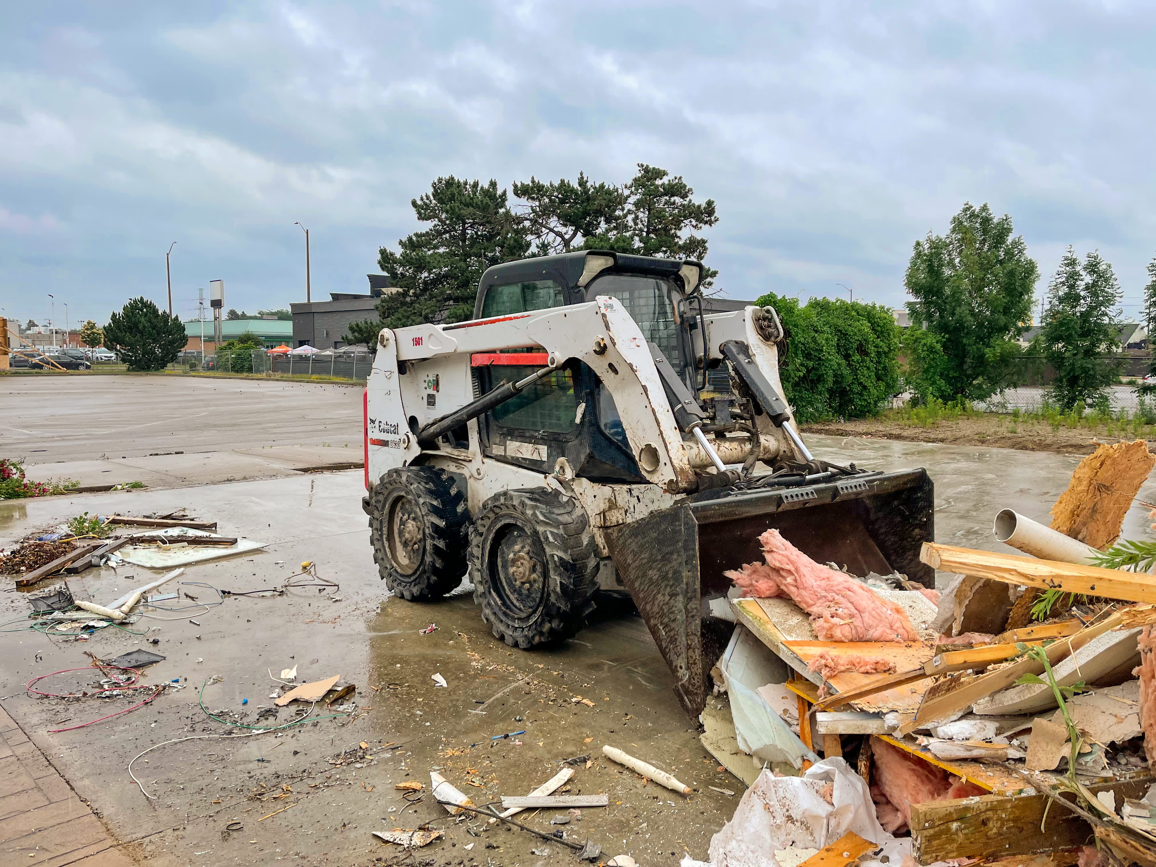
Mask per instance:
[[[1079,457],[999,449],[837,437],[809,442],[818,457],[868,468],[926,466],[936,483],[938,539],[992,549],[995,511],[1011,506],[1046,520],[1079,462]],[[1149,487],[1141,499],[1151,499]],[[468,593],[432,605],[386,599],[361,494],[362,473],[350,470],[0,504],[0,544],[82,511],[183,506],[216,519],[222,533],[269,543],[252,557],[188,568],[177,580],[188,583],[180,590],[197,599],[165,602],[188,607],[150,612],[131,631],[108,628],[88,642],[0,631],[0,704],[129,844],[127,851],[150,865],[370,865],[400,852],[371,831],[412,829],[430,820],[437,820],[445,838],[420,850],[418,862],[572,864],[558,843],[491,828],[480,818],[458,822],[428,794],[435,769],[481,805],[502,794],[527,794],[562,766],[575,769],[566,794],[605,792],[610,806],[583,809],[580,820],[561,828],[549,824],[558,815],[549,810],[527,810],[520,821],[544,832],[564,830],[578,843],[588,835],[607,857],[625,852],[639,864],[674,865],[687,852],[705,858],[711,836],[738,803],[738,796],[709,786],[739,793],[742,786],[720,773],[702,748],[696,722],[677,704],[673,679],[630,607],[603,600],[575,639],[527,653],[489,635]],[[1147,525],[1144,510],[1134,507],[1126,535],[1138,538]],[[214,587],[250,593],[281,586],[303,561],[317,562],[318,575],[340,587],[229,595],[220,605],[194,607],[217,601]],[[132,566],[89,570],[69,584],[77,598],[108,602],[155,575]],[[13,621],[27,614],[23,596],[2,594],[0,630],[20,625]],[[422,635],[431,623],[437,630]],[[153,638],[158,644],[146,644]],[[112,720],[49,732],[136,699],[36,699],[24,691],[30,677],[87,666],[86,652],[112,658],[140,647],[166,657],[147,669],[146,682],[179,679],[180,689]],[[129,778],[128,761],[149,747],[251,731],[210,719],[199,704],[202,684],[205,707],[221,720],[253,726],[264,711],[260,725],[289,722],[294,710],[280,709],[276,722],[268,716],[277,687],[271,672],[276,676],[295,665],[298,683],[334,674],[356,683],[351,716],[317,707],[316,719],[281,732],[160,747],[133,765],[151,798]],[[435,673],[447,688],[435,683]],[[87,673],[69,680],[75,676],[59,675],[43,686],[64,691],[94,682]],[[521,729],[525,734],[491,740]],[[601,758],[606,743],[673,772],[696,793],[683,798],[644,785]],[[590,756],[590,766],[579,756]],[[562,765],[566,759],[577,761]],[[407,780],[427,786],[414,805],[394,787]]]

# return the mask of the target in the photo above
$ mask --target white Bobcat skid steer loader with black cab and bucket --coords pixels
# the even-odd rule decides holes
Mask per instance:
[[[531,649],[624,590],[697,716],[733,629],[710,601],[768,527],[933,585],[927,473],[816,460],[780,397],[778,316],[704,314],[701,274],[606,251],[506,262],[474,319],[380,332],[363,504],[391,591],[436,600],[468,569],[494,635]]]

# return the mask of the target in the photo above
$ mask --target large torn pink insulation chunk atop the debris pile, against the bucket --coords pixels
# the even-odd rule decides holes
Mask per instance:
[[[862,581],[820,565],[769,529],[758,541],[766,563],[725,572],[748,596],[790,596],[810,615],[822,642],[914,642],[906,613]]]

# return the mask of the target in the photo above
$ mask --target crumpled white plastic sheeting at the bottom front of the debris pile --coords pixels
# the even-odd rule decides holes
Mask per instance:
[[[833,784],[832,803],[822,795]],[[712,867],[762,867],[768,853],[791,847],[822,849],[853,831],[882,847],[861,867],[898,865],[911,854],[910,839],[887,833],[875,817],[866,781],[838,757],[824,758],[801,777],[776,777],[764,770],[743,793],[734,816],[711,838]]]

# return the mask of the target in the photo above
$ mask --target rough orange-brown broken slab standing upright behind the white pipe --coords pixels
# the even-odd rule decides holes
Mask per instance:
[[[1112,544],[1154,465],[1156,457],[1143,439],[1099,446],[1080,461],[1052,506],[1052,529],[1092,548]]]

